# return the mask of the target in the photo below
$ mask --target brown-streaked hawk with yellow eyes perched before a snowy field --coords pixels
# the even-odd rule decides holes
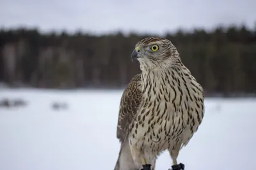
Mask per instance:
[[[115,170],[145,165],[154,170],[164,150],[169,151],[173,167],[180,149],[202,123],[204,90],[168,39],[142,39],[131,57],[140,62],[141,73],[121,97],[116,132],[121,148]]]

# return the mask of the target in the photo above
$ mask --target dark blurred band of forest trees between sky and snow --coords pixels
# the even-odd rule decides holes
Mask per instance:
[[[1,29],[0,81],[13,87],[124,88],[140,73],[139,62],[131,61],[131,52],[136,42],[147,36],[156,35]],[[164,37],[177,46],[182,62],[204,87],[206,96],[256,94],[256,28],[179,30]]]

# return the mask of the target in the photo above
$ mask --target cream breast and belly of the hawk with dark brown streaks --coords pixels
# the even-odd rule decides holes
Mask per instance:
[[[130,145],[141,154],[187,145],[204,117],[204,92],[189,70],[172,67],[141,74],[141,103]]]

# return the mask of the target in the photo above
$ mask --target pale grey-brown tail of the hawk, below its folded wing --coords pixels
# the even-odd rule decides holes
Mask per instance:
[[[122,143],[114,170],[138,170],[132,159],[128,141]]]

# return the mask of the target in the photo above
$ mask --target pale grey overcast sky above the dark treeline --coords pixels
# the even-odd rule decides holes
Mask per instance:
[[[95,33],[175,31],[256,23],[255,0],[1,0],[0,27]]]

